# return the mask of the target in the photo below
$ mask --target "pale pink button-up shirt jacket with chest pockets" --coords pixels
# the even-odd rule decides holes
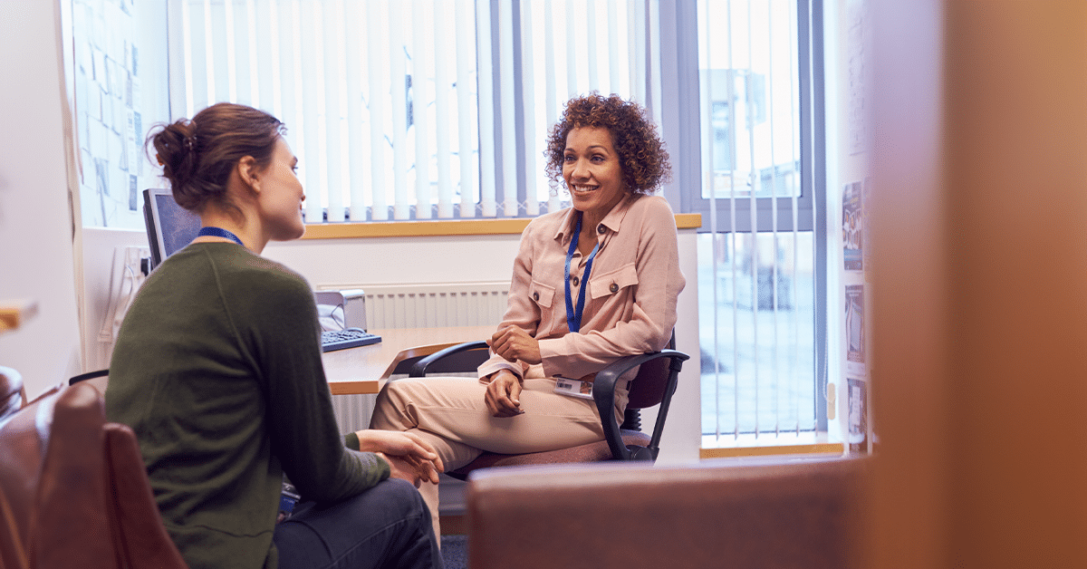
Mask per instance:
[[[509,369],[518,378],[576,379],[622,356],[667,345],[676,323],[676,297],[686,284],[667,200],[630,195],[598,226],[600,249],[589,275],[582,330],[570,334],[563,274],[575,221],[574,210],[567,208],[540,215],[525,227],[509,306],[499,325],[521,326],[538,339],[542,363],[530,367],[491,355],[479,367],[479,378]],[[575,305],[585,261],[574,252],[570,273]]]

